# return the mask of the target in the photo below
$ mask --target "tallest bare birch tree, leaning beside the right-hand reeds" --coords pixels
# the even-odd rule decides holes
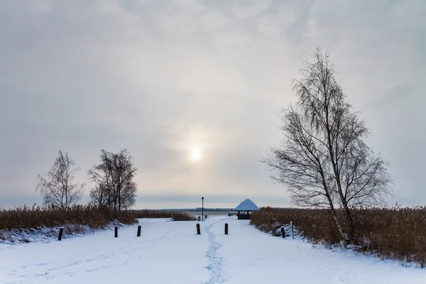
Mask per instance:
[[[312,58],[302,80],[293,80],[297,104],[280,116],[284,140],[263,162],[295,204],[330,209],[344,239],[356,242],[353,209],[386,204],[388,163],[366,146],[370,132],[335,80],[328,53],[317,48]],[[336,208],[344,210],[349,234]]]

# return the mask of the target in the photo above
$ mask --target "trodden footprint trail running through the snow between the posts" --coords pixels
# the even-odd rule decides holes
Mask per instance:
[[[212,227],[215,224],[223,221],[224,219],[209,224],[209,226],[206,227],[208,236],[207,240],[209,242],[209,248],[207,249],[206,256],[207,258],[209,258],[210,261],[209,265],[206,266],[206,268],[210,271],[210,279],[207,280],[207,282],[205,282],[204,284],[220,284],[226,281],[226,272],[224,270],[223,258],[222,256],[219,256],[217,254],[217,251],[222,248],[222,244],[216,241],[216,236],[214,236],[214,233],[212,232]]]

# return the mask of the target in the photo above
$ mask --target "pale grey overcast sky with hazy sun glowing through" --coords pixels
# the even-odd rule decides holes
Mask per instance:
[[[102,148],[133,156],[135,208],[290,206],[259,160],[317,45],[391,163],[389,204],[426,204],[425,1],[4,0],[0,207],[41,204],[59,150],[87,202]]]

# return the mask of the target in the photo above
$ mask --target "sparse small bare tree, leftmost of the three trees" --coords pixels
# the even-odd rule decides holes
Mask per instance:
[[[42,177],[37,175],[38,190],[43,195],[43,204],[60,209],[68,209],[82,197],[84,184],[73,183],[75,173],[80,168],[74,168],[75,161],[59,151],[53,167]]]

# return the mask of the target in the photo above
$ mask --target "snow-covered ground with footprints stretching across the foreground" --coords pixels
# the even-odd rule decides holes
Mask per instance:
[[[351,251],[313,248],[236,217],[201,223],[141,219],[137,226],[49,243],[0,244],[0,283],[426,283],[404,268]],[[224,235],[229,223],[229,235]]]

